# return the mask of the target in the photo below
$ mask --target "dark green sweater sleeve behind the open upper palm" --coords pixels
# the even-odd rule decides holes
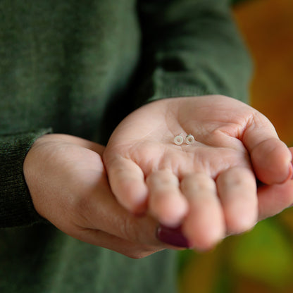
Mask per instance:
[[[251,61],[229,0],[139,1],[144,80],[138,104],[225,94],[247,101]]]

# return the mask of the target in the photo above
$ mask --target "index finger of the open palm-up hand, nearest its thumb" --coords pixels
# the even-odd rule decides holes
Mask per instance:
[[[247,168],[230,168],[218,175],[216,185],[227,232],[237,234],[251,229],[258,217],[254,173]]]

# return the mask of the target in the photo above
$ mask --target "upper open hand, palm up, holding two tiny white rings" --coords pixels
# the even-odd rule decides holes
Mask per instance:
[[[192,145],[173,143],[194,135]],[[226,96],[155,101],[127,116],[104,152],[113,193],[132,212],[182,225],[190,246],[213,247],[293,202],[292,154],[254,108]],[[258,201],[256,177],[261,187]],[[279,188],[279,189],[278,189]],[[284,191],[283,190],[283,191]],[[266,201],[268,194],[268,201]],[[259,214],[258,214],[259,210]]]

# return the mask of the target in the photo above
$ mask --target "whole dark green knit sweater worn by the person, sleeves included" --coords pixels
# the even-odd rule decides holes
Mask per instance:
[[[171,96],[244,100],[250,63],[228,0],[0,1],[0,292],[174,292],[173,251],[133,260],[46,223],[23,161],[37,137],[106,143]]]

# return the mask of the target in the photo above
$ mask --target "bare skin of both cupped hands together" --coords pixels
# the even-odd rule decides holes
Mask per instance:
[[[180,133],[196,142],[175,145]],[[156,239],[158,223],[182,225],[192,247],[206,250],[287,208],[291,161],[261,113],[225,96],[203,96],[139,108],[106,150],[79,137],[44,135],[28,152],[24,174],[37,212],[58,229],[142,258],[176,249]],[[265,183],[258,189],[256,176]]]

